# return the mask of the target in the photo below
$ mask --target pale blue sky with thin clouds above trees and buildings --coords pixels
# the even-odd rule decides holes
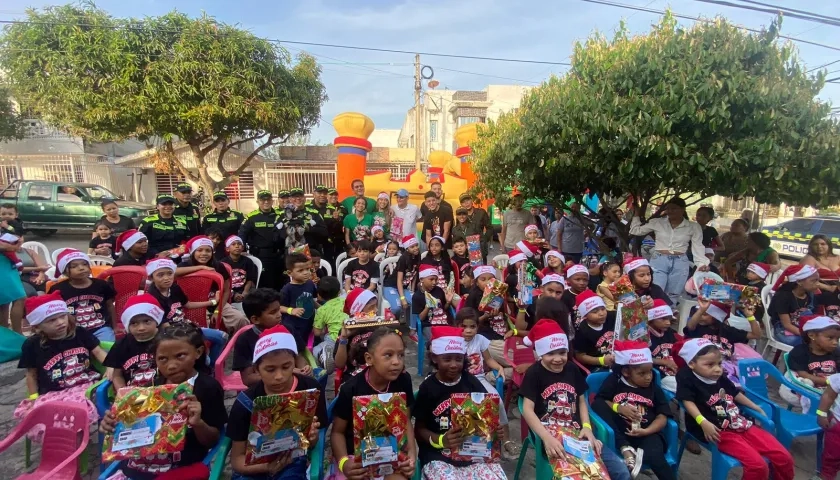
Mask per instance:
[[[771,14],[701,3],[697,0],[615,0],[618,3],[711,18],[721,15],[751,28],[767,26]],[[764,0],[765,3],[840,17],[840,2]],[[0,19],[24,19],[27,8],[64,3],[4,0]],[[388,48],[411,52],[567,62],[576,41],[593,32],[611,36],[624,19],[632,34],[650,30],[660,15],[586,3],[581,0],[99,0],[119,17],[156,16],[173,9],[203,13],[271,39]],[[691,24],[689,20],[680,20]],[[785,18],[782,34],[840,47],[840,27]],[[795,43],[809,68],[840,60],[840,51]],[[284,44],[301,49],[323,67],[329,100],[313,142],[329,143],[341,112],[371,117],[377,128],[402,126],[414,102],[414,55]],[[489,84],[538,85],[568,67],[421,56],[434,69],[438,89],[481,90]],[[840,62],[827,68],[840,70]],[[458,70],[458,71],[453,71]],[[829,77],[840,76],[840,72]],[[840,103],[840,84],[826,84],[820,97]]]

